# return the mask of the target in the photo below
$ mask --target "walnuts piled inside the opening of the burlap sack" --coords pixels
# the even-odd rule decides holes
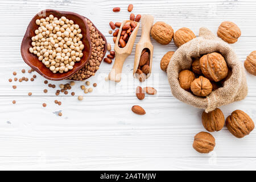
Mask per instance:
[[[193,59],[191,70],[179,73],[180,87],[195,96],[206,97],[232,75],[224,57],[217,52]]]

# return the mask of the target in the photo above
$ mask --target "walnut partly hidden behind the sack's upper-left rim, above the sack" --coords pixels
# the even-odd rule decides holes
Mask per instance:
[[[190,40],[196,38],[196,35],[189,28],[180,28],[174,34],[174,43],[177,47],[189,42]]]

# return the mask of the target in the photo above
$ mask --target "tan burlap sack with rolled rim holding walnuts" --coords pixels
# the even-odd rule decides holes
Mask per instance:
[[[220,52],[225,57],[228,67],[232,69],[232,76],[207,97],[197,97],[185,91],[179,84],[179,72],[190,69],[191,57],[199,57],[211,52]],[[172,56],[167,68],[168,81],[172,94],[189,105],[204,109],[207,113],[222,105],[243,100],[247,95],[245,69],[229,44],[213,35],[207,28],[200,28],[199,37],[181,46]]]

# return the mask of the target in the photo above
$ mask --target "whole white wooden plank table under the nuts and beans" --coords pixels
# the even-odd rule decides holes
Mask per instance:
[[[140,84],[132,76],[134,50],[125,62],[125,75],[118,84],[106,82],[112,65],[102,63],[96,76],[89,78],[98,86],[83,101],[70,94],[55,96],[55,90],[43,83],[40,75],[34,82],[9,82],[26,76],[21,69],[29,67],[20,56],[20,43],[27,25],[43,9],[73,11],[88,17],[114,46],[109,22],[129,18],[127,6],[133,3],[134,14],[152,14],[176,31],[191,28],[198,35],[200,27],[216,34],[224,20],[235,22],[242,36],[232,47],[241,62],[256,48],[256,2],[247,1],[0,1],[0,169],[256,169],[256,131],[237,139],[224,127],[213,133],[216,147],[210,154],[199,154],[192,148],[193,137],[205,131],[201,125],[202,110],[183,104],[172,96],[166,73],[159,66],[168,46],[154,44],[154,73],[142,86],[154,86],[157,96],[135,97]],[[112,8],[121,7],[121,13]],[[138,32],[136,42],[141,36]],[[135,42],[135,43],[136,43]],[[135,49],[135,47],[134,47]],[[35,73],[35,72],[34,72]],[[221,107],[227,117],[241,109],[256,121],[256,77],[246,73],[249,93],[245,100]],[[49,81],[59,85],[68,81]],[[84,94],[76,82],[72,88]],[[12,86],[17,85],[13,90]],[[48,93],[43,93],[48,89]],[[32,92],[32,96],[28,96]],[[11,102],[16,100],[16,104]],[[61,106],[54,104],[60,100]],[[47,107],[43,108],[45,102]],[[141,105],[146,115],[131,112]],[[62,111],[59,117],[55,112]]]

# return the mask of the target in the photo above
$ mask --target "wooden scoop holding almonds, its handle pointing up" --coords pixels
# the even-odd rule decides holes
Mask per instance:
[[[141,59],[141,53],[144,48],[147,48],[150,51],[150,72],[147,74],[146,78],[150,77],[151,68],[152,68],[153,50],[154,50],[154,47],[150,40],[150,31],[151,31],[153,22],[154,22],[154,17],[152,15],[142,15],[142,18],[141,18],[142,34],[141,34],[141,40],[139,40],[138,44],[136,45],[134,67],[133,67],[133,76],[134,77],[135,77],[135,73],[139,66],[139,60]]]

